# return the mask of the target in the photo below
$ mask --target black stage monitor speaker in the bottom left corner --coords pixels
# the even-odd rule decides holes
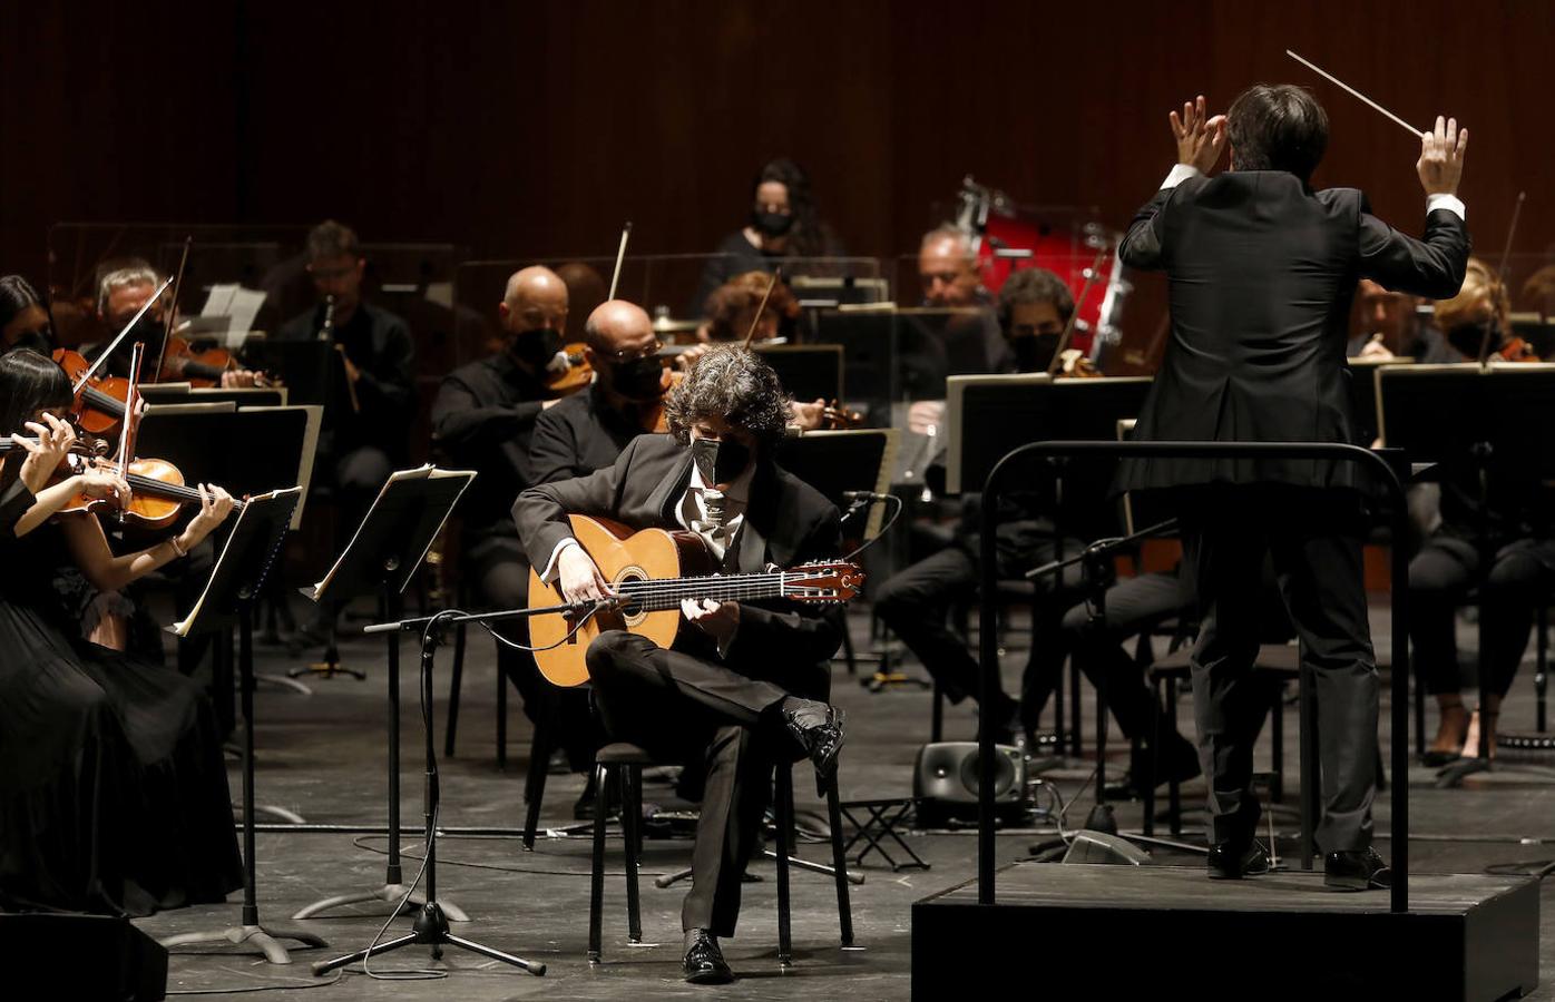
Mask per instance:
[[[0,983],[8,999],[166,997],[168,951],[128,918],[0,915]]]

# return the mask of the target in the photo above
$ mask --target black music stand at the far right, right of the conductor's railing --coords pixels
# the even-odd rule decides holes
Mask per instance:
[[[1403,447],[1410,463],[1471,469],[1479,480],[1480,524],[1474,547],[1480,573],[1494,561],[1490,548],[1493,494],[1532,492],[1555,478],[1555,365],[1398,365],[1376,373],[1378,426],[1384,444]],[[1451,402],[1446,405],[1446,402]],[[1539,415],[1544,415],[1543,418]],[[1485,705],[1485,620],[1479,625],[1479,701]],[[1438,774],[1440,786],[1491,769],[1490,729],[1480,721],[1479,757]]]

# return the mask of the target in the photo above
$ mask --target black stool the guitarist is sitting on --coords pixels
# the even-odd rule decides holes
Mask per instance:
[[[620,825],[627,848],[627,935],[633,943],[642,941],[642,909],[638,895],[638,861],[642,858],[642,767],[664,764],[636,744],[617,741],[606,744],[594,755],[594,873],[589,887],[588,912],[588,959],[599,963],[603,949],[605,912],[605,788],[611,778],[620,783]],[[793,963],[793,943],[788,929],[788,853],[793,837],[793,763],[781,760],[776,766],[776,814],[778,814],[778,963]],[[841,924],[843,946],[854,943],[854,917],[847,898],[847,856],[843,848],[843,816],[837,797],[837,774],[824,781],[826,808],[832,830],[832,865],[837,879],[837,918]]]

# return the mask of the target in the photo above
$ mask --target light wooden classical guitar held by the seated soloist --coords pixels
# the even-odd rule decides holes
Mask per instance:
[[[718,575],[712,573],[712,555],[695,533],[661,528],[634,533],[625,525],[578,514],[568,516],[568,520],[572,522],[574,539],[599,564],[619,601],[614,607],[588,615],[582,626],[577,618],[561,612],[530,618],[530,645],[550,648],[535,651],[535,663],[555,685],[588,682],[583,654],[594,637],[606,629],[627,629],[662,648],[673,645],[684,623],[680,612],[683,598],[844,603],[858,593],[865,581],[865,573],[844,561],[804,564],[791,570]],[[560,586],[544,584],[538,573],[529,572],[532,609],[561,601]],[[568,637],[574,628],[577,632]]]

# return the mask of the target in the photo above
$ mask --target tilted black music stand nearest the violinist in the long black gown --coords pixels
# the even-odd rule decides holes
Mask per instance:
[[[191,943],[253,943],[269,963],[291,963],[277,938],[297,940],[305,946],[328,946],[320,937],[305,931],[278,931],[260,924],[260,906],[253,887],[253,600],[264,584],[264,575],[286,539],[286,522],[302,494],[288,488],[260,494],[244,502],[236,525],[211,570],[205,592],[182,621],[168,628],[176,637],[227,629],[238,625],[238,671],[243,707],[243,918],[241,924],[219,932],[183,932],[162,946]]]

